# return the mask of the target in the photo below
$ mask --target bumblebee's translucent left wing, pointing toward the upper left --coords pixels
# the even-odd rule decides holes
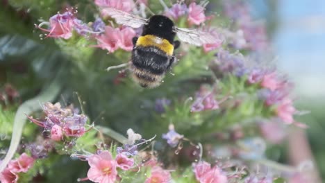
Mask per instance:
[[[115,8],[103,8],[101,13],[104,16],[109,16],[115,19],[117,24],[122,24],[125,26],[131,26],[133,28],[139,28],[143,24],[147,24],[147,19],[143,19],[141,17],[137,17],[130,13],[117,10]]]

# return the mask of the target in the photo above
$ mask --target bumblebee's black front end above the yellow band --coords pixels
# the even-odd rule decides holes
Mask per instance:
[[[174,22],[163,15],[153,15],[150,17],[148,24],[144,26],[142,35],[156,35],[173,44],[176,35]]]

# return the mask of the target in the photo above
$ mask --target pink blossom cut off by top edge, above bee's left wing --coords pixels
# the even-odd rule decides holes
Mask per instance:
[[[94,2],[97,6],[115,8],[124,12],[131,12],[134,7],[132,0],[95,0]]]

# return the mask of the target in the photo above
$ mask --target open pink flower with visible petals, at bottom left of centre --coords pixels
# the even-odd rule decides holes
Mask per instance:
[[[92,182],[114,183],[117,179],[117,163],[108,150],[89,157],[88,164],[90,169],[87,176]]]

